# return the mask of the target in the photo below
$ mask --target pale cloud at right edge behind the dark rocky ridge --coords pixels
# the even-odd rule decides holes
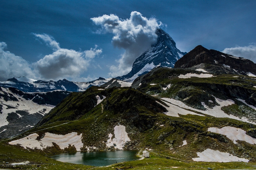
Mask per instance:
[[[251,43],[249,46],[244,47],[235,46],[232,48],[225,48],[222,52],[237,57],[243,57],[256,63],[256,43]]]

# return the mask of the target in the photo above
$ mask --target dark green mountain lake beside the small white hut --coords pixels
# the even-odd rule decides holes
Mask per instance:
[[[98,151],[98,152],[74,152],[61,153],[49,156],[61,162],[69,162],[74,164],[84,164],[92,166],[107,166],[116,162],[132,161],[138,159],[136,153],[138,151]]]

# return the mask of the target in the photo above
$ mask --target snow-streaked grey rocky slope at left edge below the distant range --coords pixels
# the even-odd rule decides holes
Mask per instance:
[[[68,91],[30,94],[13,87],[0,87],[0,139],[31,129],[69,94]]]

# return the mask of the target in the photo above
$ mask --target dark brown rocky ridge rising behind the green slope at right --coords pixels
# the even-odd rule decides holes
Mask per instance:
[[[251,60],[208,50],[201,45],[179,59],[174,68],[201,68],[214,74],[256,75],[256,64]]]

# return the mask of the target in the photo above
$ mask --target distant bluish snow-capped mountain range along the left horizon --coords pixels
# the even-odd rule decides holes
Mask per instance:
[[[50,80],[35,80],[26,77],[14,77],[8,79],[5,82],[0,82],[1,87],[9,88],[15,87],[23,92],[49,92],[53,90],[65,90],[71,92],[85,91],[91,86],[101,86],[111,80],[105,78],[98,78],[97,80],[90,82],[71,82],[69,80],[63,79],[57,82]]]

